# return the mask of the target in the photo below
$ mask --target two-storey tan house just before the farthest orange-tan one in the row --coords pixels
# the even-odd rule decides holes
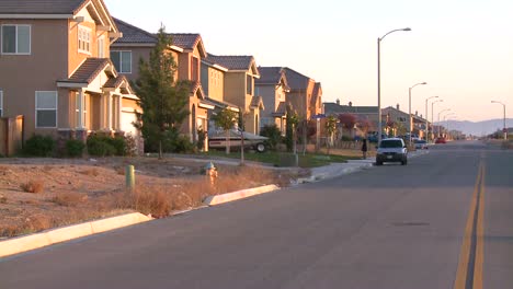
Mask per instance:
[[[255,80],[256,95],[261,95],[265,109],[261,115],[261,127],[276,125],[285,135],[287,103],[290,91],[285,71],[281,67],[259,67],[260,79]]]

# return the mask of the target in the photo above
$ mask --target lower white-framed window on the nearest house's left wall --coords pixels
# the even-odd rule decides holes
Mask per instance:
[[[57,127],[56,91],[36,91],[36,127]]]

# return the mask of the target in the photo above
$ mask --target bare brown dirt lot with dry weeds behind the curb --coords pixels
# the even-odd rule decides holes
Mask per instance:
[[[125,166],[136,189],[125,188]],[[0,160],[0,238],[14,236],[125,211],[166,217],[201,205],[208,195],[264,184],[288,185],[298,172],[218,165],[214,185],[206,161],[152,158]],[[305,174],[305,172],[300,172]]]

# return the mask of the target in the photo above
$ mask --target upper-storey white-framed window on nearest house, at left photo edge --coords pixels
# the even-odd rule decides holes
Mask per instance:
[[[31,26],[2,25],[2,54],[30,55]]]

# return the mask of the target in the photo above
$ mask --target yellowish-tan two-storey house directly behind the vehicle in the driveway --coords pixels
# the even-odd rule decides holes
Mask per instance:
[[[264,109],[262,96],[254,91],[254,80],[260,78],[252,56],[215,56],[206,59],[228,70],[224,73],[224,102],[242,109],[246,131],[259,135],[260,117]]]

